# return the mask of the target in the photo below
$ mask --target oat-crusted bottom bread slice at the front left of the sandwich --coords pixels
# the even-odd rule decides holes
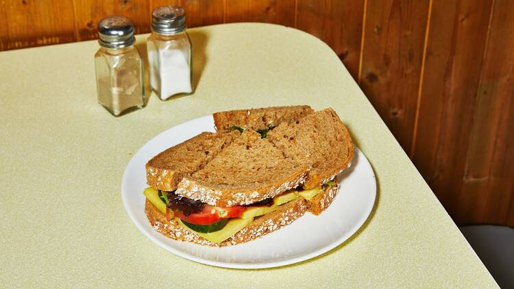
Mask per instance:
[[[228,238],[219,244],[215,244],[182,227],[179,225],[178,221],[175,221],[175,219],[167,221],[166,216],[164,216],[164,214],[162,214],[154,204],[148,200],[146,200],[145,203],[145,213],[150,225],[154,227],[156,231],[174,240],[194,242],[215,247],[240,244],[269,234],[272,231],[276,231],[293,223],[297,218],[303,216],[306,210],[306,201],[302,198],[296,199],[281,205],[277,210],[273,210],[269,214],[255,218],[252,223],[249,223],[247,227],[238,231],[231,238]]]

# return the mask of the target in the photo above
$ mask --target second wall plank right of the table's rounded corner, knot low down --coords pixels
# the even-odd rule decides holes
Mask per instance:
[[[367,3],[360,87],[410,151],[430,1]]]

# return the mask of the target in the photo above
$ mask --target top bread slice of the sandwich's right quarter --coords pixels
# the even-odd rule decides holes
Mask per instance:
[[[267,139],[286,157],[309,164],[305,188],[315,188],[345,169],[354,155],[347,128],[332,108],[281,123],[267,133]]]

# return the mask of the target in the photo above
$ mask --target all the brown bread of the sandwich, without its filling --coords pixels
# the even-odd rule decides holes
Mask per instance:
[[[265,216],[254,219],[234,236],[214,244],[185,229],[178,221],[167,221],[148,200],[145,213],[160,233],[175,240],[209,246],[228,246],[254,240],[280,229],[306,210],[321,214],[339,190],[336,177],[352,160],[352,139],[331,108],[313,112],[310,107],[262,108],[215,114],[215,134],[202,133],[163,151],[147,164],[150,186],[175,190],[190,199],[217,206],[255,203],[299,185],[322,186],[310,200],[295,199]],[[243,133],[230,131],[232,125]],[[256,129],[276,126],[261,138]],[[220,129],[221,128],[221,129]]]

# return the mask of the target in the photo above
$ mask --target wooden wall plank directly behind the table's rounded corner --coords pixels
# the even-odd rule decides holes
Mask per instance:
[[[326,42],[358,78],[365,0],[299,0],[298,29]]]

